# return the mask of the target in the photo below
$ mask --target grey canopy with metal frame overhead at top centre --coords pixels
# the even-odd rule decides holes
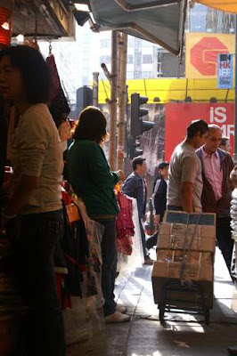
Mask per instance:
[[[99,30],[118,29],[179,54],[187,0],[90,0]]]

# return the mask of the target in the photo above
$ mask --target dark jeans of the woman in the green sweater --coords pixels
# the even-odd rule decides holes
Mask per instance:
[[[102,235],[102,295],[104,297],[104,316],[116,311],[114,284],[117,270],[117,247],[115,220],[96,220],[104,226]]]

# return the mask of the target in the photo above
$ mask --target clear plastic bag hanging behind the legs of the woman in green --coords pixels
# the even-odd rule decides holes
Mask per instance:
[[[91,220],[81,199],[73,198],[86,225],[89,241],[87,269],[83,273],[82,298],[71,297],[72,309],[63,312],[66,344],[83,342],[104,328],[103,296],[101,287],[102,251],[101,241],[104,227]]]

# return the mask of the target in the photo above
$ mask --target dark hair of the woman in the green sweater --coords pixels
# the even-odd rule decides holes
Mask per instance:
[[[81,111],[73,127],[72,138],[102,143],[107,136],[106,125],[106,118],[102,111],[94,106],[88,106]]]

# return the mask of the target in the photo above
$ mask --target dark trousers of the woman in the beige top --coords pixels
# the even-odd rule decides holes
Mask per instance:
[[[26,308],[23,335],[27,356],[64,356],[64,327],[57,298],[53,253],[63,233],[62,212],[21,216],[17,265]]]

